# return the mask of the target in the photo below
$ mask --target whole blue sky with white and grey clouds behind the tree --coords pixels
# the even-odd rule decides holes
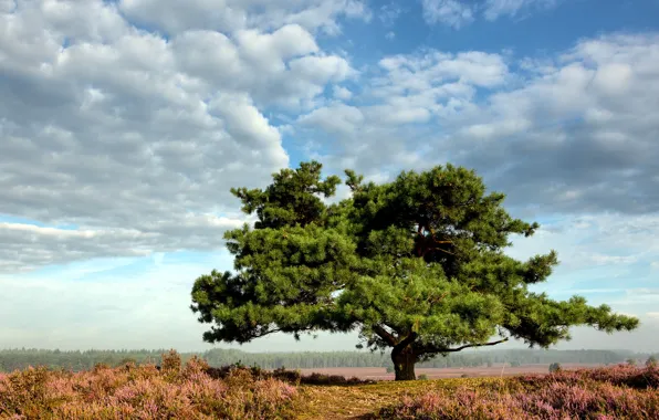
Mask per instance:
[[[659,350],[658,0],[0,0],[0,348],[205,350],[231,187],[473,168]],[[347,197],[345,187],[337,198]],[[249,351],[354,349],[356,334]],[[508,344],[506,344],[508,345]],[[522,346],[512,343],[510,346]],[[500,347],[501,348],[501,347]]]

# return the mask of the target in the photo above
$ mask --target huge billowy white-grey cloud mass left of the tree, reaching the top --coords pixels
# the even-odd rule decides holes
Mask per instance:
[[[28,222],[0,225],[0,270],[221,246],[244,220],[229,188],[262,186],[289,164],[264,109],[304,109],[356,76],[311,31],[360,4],[3,6],[0,216]],[[271,27],[250,8],[313,15]],[[75,230],[48,230],[61,224]]]

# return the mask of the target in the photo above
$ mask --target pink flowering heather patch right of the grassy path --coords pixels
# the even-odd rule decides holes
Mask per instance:
[[[657,368],[616,366],[439,389],[379,411],[387,419],[659,419]]]

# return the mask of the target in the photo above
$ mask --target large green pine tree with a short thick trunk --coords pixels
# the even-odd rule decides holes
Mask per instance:
[[[505,255],[510,234],[530,237],[538,224],[509,216],[505,196],[485,195],[472,170],[438,166],[381,185],[346,170],[352,197],[327,204],[321,196],[341,179],[321,169],[303,162],[273,174],[265,189],[231,189],[258,220],[224,234],[234,272],[213,270],[192,286],[190,308],[213,324],[206,342],[357,330],[357,347],[390,349],[396,379],[408,380],[415,364],[464,348],[510,338],[547,348],[575,325],[638,326],[579,296],[529,291],[557,255]]]

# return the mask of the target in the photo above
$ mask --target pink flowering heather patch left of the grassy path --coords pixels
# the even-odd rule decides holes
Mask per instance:
[[[285,419],[294,417],[300,396],[280,380],[249,371],[224,379],[207,375],[208,365],[178,355],[164,357],[163,369],[127,365],[91,371],[29,368],[0,376],[2,419]]]

